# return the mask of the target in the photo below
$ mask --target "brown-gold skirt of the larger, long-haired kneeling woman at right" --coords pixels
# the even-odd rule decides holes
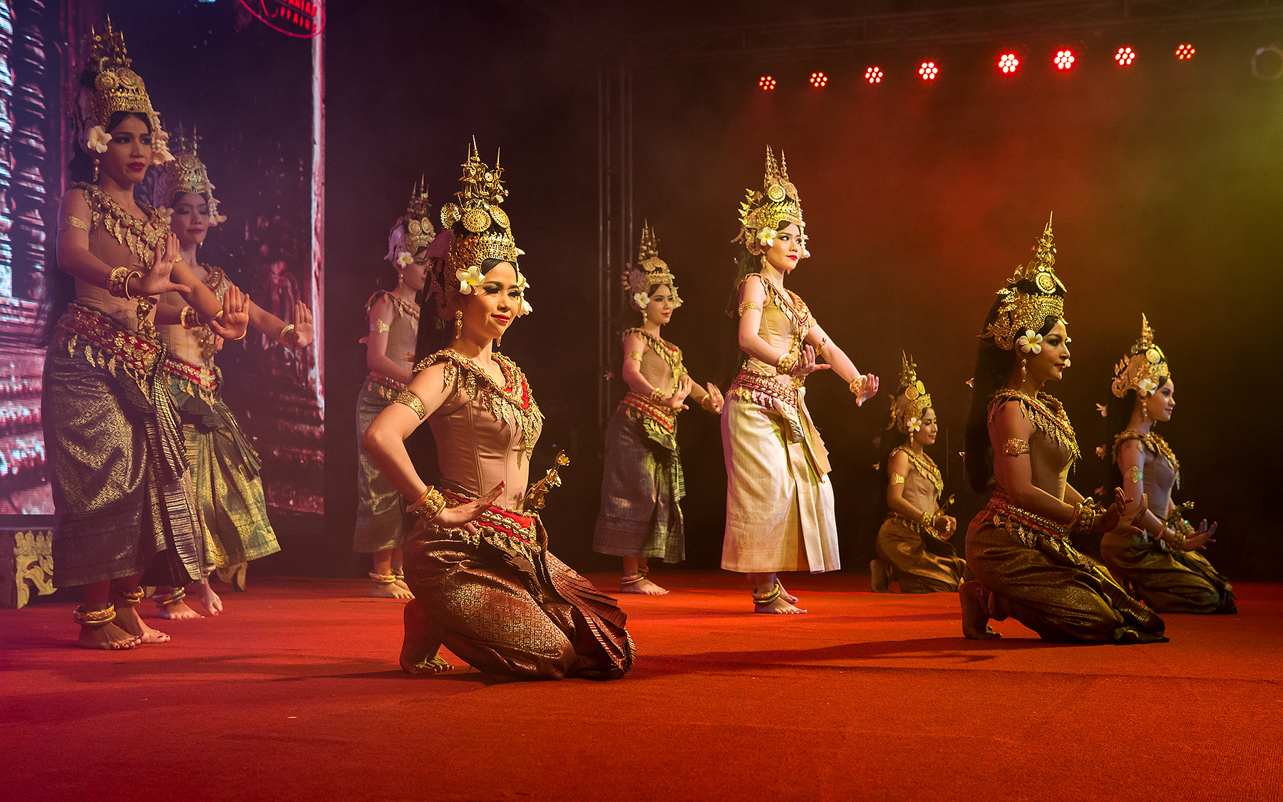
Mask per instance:
[[[1039,536],[1034,547],[996,527],[983,510],[966,533],[967,568],[997,598],[990,614],[1010,612],[1044,641],[1061,643],[1151,643],[1164,623],[1132,598],[1105,566],[1065,541]]]

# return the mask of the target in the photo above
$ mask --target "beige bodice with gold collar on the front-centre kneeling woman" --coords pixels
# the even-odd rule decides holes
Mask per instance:
[[[427,419],[443,486],[476,497],[504,482],[495,505],[520,510],[543,414],[516,363],[500,354],[494,360],[503,370],[502,387],[480,365],[449,350],[422,360],[416,373],[435,363],[445,365],[449,397]]]

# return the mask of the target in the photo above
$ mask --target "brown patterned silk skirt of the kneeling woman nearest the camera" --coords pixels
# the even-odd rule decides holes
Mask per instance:
[[[405,543],[405,582],[445,628],[445,648],[479,671],[618,679],[633,667],[627,616],[544,548],[527,556],[486,536],[473,544],[418,525]]]

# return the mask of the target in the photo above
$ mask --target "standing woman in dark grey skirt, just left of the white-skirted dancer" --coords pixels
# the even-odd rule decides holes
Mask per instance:
[[[662,327],[681,306],[677,284],[659,259],[650,224],[642,227],[638,266],[624,275],[629,304],[642,325],[624,332],[624,381],[629,392],[606,427],[606,471],[593,551],[624,557],[621,593],[667,593],[647,577],[647,560],[686,559],[681,497],[685,482],[677,450],[677,413],[689,395],[704,410],[720,414],[716,386],[695,384],[681,364],[681,348],[663,340]]]

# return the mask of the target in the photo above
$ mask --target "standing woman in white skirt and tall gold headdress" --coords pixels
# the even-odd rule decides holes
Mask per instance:
[[[797,293],[784,288],[806,250],[806,223],[784,154],[766,149],[762,190],[740,208],[743,243],[735,278],[739,375],[726,393],[726,537],[722,568],[743,571],[756,612],[806,612],[776,571],[838,568],[838,528],[829,482],[829,452],[806,409],[806,375],[833,368],[862,405],[878,377],[862,375],[829,341]],[[816,355],[828,364],[817,364]]]

